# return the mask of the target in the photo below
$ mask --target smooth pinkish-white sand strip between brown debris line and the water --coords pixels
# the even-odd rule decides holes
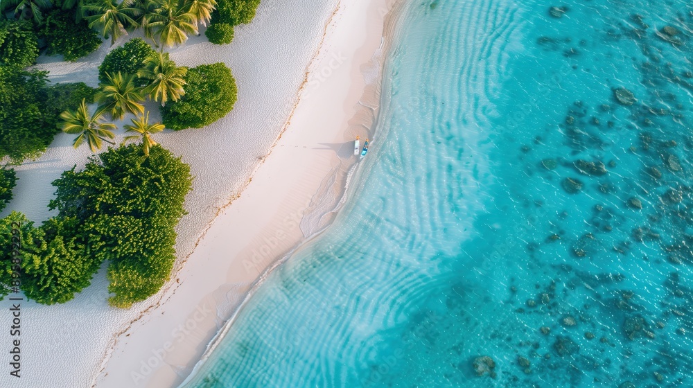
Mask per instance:
[[[344,172],[358,160],[353,139],[369,136],[378,88],[362,72],[372,80],[380,74],[371,58],[379,53],[385,7],[385,0],[340,4],[286,132],[243,195],[213,222],[179,285],[119,337],[98,387],[178,385],[258,276],[322,229],[322,218],[304,215],[334,209]]]

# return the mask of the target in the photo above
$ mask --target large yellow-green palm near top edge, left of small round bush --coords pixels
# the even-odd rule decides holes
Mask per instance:
[[[159,43],[173,47],[185,43],[188,34],[198,33],[198,21],[182,0],[158,0],[147,20],[148,28],[159,36]]]

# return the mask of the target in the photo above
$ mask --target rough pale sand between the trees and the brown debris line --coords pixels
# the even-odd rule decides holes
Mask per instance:
[[[192,36],[184,46],[169,51],[179,66],[225,62],[234,72],[239,92],[234,110],[220,121],[202,130],[166,130],[155,136],[164,148],[182,155],[195,175],[193,192],[186,198],[188,215],[176,229],[175,271],[179,271],[182,259],[213,223],[218,209],[238,197],[249,175],[277,141],[336,3],[336,0],[263,0],[254,21],[236,28],[233,43],[213,46],[204,35]],[[42,56],[37,67],[51,71],[49,80],[53,82],[86,82],[94,86],[97,67],[105,53],[136,36],[124,37],[114,46],[106,42],[96,53],[77,62]],[[123,139],[122,125],[129,118],[126,116],[118,123],[121,129],[116,131],[116,143]],[[160,119],[157,110],[152,111],[151,118]],[[15,166],[19,181],[15,197],[3,215],[17,210],[30,220],[41,222],[53,214],[47,208],[54,191],[51,182],[74,165],[84,166],[91,155],[84,147],[74,150],[72,139],[72,135],[59,133],[40,158]],[[174,276],[165,287],[175,287],[178,281],[186,280]],[[147,301],[121,310],[108,306],[107,285],[102,267],[91,285],[69,303],[44,306],[28,301],[23,304],[22,310],[30,319],[22,322],[22,332],[29,333],[35,345],[22,349],[24,378],[12,382],[13,385],[17,388],[91,387],[114,336],[133,321],[149,321],[151,312],[176,293],[162,289]],[[0,341],[8,338],[8,333],[0,333]],[[54,376],[46,374],[46,365],[63,372]],[[7,376],[0,376],[0,385],[3,384],[10,384]],[[132,382],[124,386],[131,385]]]

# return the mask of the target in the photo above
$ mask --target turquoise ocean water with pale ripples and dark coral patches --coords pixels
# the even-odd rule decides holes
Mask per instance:
[[[188,386],[693,387],[693,4],[398,30],[354,195]]]

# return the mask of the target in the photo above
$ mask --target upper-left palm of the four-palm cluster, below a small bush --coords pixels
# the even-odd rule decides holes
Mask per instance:
[[[144,106],[141,104],[144,96],[137,87],[137,76],[119,71],[115,75],[106,73],[106,78],[106,82],[99,84],[100,89],[94,99],[103,104],[103,109],[108,110],[114,120],[122,120],[128,112],[144,113]]]

